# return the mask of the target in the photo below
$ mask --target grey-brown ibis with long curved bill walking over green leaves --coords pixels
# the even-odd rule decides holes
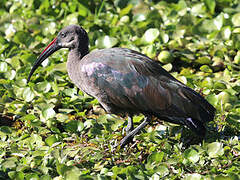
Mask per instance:
[[[61,48],[68,48],[67,72],[84,93],[96,98],[106,113],[127,115],[123,148],[149,124],[152,117],[185,126],[204,137],[205,124],[215,108],[199,93],[175,79],[161,63],[121,47],[89,52],[89,38],[79,25],[64,27],[35,61],[27,82],[40,64]],[[133,116],[143,114],[136,128]]]

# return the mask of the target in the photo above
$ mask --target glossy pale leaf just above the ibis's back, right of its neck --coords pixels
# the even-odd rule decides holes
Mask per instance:
[[[98,48],[111,48],[118,43],[118,40],[110,36],[102,36],[95,42]]]

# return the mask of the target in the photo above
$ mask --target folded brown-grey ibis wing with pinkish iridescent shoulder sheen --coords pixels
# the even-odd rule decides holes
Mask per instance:
[[[94,55],[97,68],[92,71],[94,83],[99,87],[105,102],[116,111],[135,111],[161,117],[194,118],[205,122],[209,107],[203,97],[186,87],[158,62],[138,52],[114,48]],[[98,98],[98,96],[95,96]],[[204,115],[200,114],[203,113]]]

